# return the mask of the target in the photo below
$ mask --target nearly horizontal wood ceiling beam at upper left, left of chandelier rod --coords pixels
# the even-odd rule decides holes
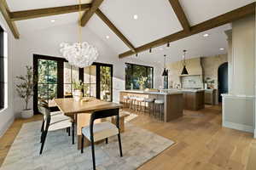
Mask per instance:
[[[89,9],[91,7],[90,3],[82,4],[82,10]],[[67,14],[79,11],[79,5],[70,5],[63,7],[53,7],[53,8],[38,8],[24,11],[10,12],[11,20],[27,20],[34,19],[38,17],[50,16],[55,14]]]

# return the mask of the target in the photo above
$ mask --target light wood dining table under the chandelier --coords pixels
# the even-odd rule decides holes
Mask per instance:
[[[81,128],[90,124],[90,115],[94,111],[104,111],[108,109],[120,108],[118,103],[102,101],[96,98],[83,98],[75,101],[73,98],[54,99],[55,106],[66,116],[73,118],[77,124],[78,149],[81,149]],[[52,105],[53,106],[53,105]],[[97,120],[101,122],[102,120]],[[85,141],[85,146],[90,141]]]

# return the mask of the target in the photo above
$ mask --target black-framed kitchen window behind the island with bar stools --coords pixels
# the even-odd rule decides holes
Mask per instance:
[[[153,79],[153,67],[125,63],[125,89],[154,88]]]

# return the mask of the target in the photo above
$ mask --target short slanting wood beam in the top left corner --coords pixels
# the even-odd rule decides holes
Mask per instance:
[[[10,19],[9,8],[8,8],[7,3],[6,3],[5,0],[0,0],[0,10],[1,10],[1,13],[3,14],[3,18],[6,20],[8,26],[9,26],[9,29],[13,32],[14,37],[16,39],[19,39],[20,34],[19,34],[18,30],[17,30],[15,22],[13,22]]]

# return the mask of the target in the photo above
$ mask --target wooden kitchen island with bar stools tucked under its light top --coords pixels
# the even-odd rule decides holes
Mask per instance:
[[[170,122],[183,116],[183,92],[146,92],[141,90],[120,91],[120,103],[124,103],[124,96],[142,97],[145,99],[163,99],[164,104],[164,122]],[[143,104],[145,105],[145,104]]]

